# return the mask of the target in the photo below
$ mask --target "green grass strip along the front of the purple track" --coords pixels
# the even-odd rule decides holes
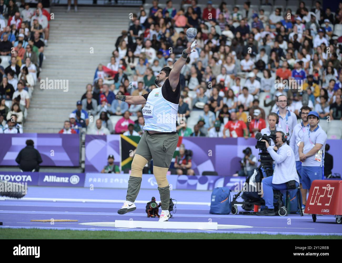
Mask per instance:
[[[301,236],[265,234],[165,233],[144,231],[89,231],[38,228],[1,228],[1,239],[342,239],[342,236]]]

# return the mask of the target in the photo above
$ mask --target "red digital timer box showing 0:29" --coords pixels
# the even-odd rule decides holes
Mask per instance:
[[[304,213],[342,215],[342,180],[314,180]]]

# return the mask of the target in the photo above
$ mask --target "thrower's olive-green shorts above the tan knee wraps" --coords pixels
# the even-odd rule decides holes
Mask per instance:
[[[174,151],[177,148],[178,134],[149,134],[143,133],[136,149],[136,154],[147,161],[153,159],[153,165],[169,168]]]

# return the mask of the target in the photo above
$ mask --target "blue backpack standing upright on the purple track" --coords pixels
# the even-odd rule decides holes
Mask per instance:
[[[231,189],[217,187],[211,193],[210,214],[227,215],[231,212]]]

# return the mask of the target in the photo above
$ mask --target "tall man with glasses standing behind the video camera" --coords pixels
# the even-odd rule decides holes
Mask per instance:
[[[294,126],[297,125],[297,115],[293,112],[290,112],[287,109],[288,101],[285,95],[280,95],[277,98],[277,106],[279,108],[277,114],[279,115],[279,128],[282,128],[287,136],[287,139],[290,140],[292,135],[292,130]]]

